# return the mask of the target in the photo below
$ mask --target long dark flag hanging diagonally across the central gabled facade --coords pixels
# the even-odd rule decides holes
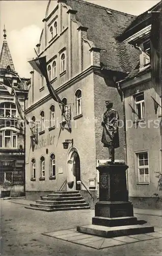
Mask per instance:
[[[47,74],[47,64],[46,64],[46,56],[44,57],[38,57],[36,59],[32,59],[29,61],[30,65],[34,70],[36,70],[40,75],[45,77],[46,83],[47,83],[47,88],[48,91],[51,95],[51,97],[57,101],[59,104],[63,104],[60,97],[56,93],[56,91],[53,89],[51,86],[51,83],[48,79],[48,74]]]

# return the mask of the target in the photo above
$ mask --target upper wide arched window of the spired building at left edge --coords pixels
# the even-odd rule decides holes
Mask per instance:
[[[14,103],[4,102],[0,105],[0,117],[16,118],[16,105]]]

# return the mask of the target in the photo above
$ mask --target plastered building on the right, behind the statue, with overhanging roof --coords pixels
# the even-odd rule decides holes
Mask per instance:
[[[161,3],[152,9],[161,12]],[[134,205],[157,207],[160,202],[153,194],[160,196],[156,176],[161,172],[161,81],[151,79],[150,34],[151,14],[147,11],[118,39],[140,53],[136,68],[120,82],[125,96],[129,197]]]

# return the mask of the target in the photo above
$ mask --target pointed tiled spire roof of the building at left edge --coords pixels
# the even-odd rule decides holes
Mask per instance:
[[[6,69],[8,66],[11,70],[15,70],[11,53],[5,37],[0,55],[0,68]]]

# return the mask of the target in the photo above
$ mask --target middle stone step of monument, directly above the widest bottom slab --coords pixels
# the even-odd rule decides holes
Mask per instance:
[[[125,225],[136,225],[138,220],[136,217],[118,217],[118,218],[105,218],[105,217],[93,217],[92,224],[106,226],[106,227],[115,227],[115,226],[125,226]]]

